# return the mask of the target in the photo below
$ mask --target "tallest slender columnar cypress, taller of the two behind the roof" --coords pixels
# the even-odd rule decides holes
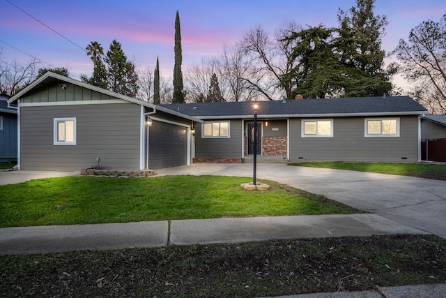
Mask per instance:
[[[175,19],[175,65],[174,65],[174,103],[184,103],[183,93],[183,73],[181,72],[181,63],[183,62],[183,54],[181,50],[181,31],[180,31],[180,15],[176,10]]]

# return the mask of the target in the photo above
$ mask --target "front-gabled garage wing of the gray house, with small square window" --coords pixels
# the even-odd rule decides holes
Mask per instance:
[[[190,128],[199,120],[164,107],[50,72],[10,103],[18,106],[20,170],[99,165],[136,171],[191,163]]]

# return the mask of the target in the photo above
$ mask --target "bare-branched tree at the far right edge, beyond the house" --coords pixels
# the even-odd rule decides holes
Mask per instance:
[[[446,114],[446,15],[427,20],[399,40],[399,70],[414,84],[413,96],[433,114]]]

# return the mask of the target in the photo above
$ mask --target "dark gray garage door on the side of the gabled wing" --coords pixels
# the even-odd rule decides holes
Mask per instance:
[[[149,133],[149,168],[187,164],[187,128],[153,121]]]

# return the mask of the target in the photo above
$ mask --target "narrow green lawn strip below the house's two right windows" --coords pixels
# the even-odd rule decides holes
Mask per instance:
[[[337,170],[375,172],[446,180],[446,165],[425,163],[290,163],[302,167],[325,167]]]

